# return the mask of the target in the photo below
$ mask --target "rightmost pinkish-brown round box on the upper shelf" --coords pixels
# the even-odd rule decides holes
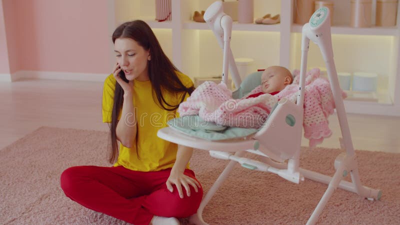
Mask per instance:
[[[395,26],[397,0],[376,0],[376,25]]]

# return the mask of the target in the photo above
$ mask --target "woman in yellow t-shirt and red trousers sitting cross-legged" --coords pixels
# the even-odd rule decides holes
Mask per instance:
[[[75,166],[61,188],[79,204],[134,224],[179,224],[196,212],[202,188],[188,161],[192,148],[157,137],[193,91],[151,28],[125,22],[112,34],[116,63],[104,81],[103,122],[110,122],[112,167]],[[117,141],[120,142],[119,151]]]

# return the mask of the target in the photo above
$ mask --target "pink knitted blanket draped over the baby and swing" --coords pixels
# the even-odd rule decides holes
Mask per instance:
[[[298,74],[298,71],[293,73]],[[180,103],[178,112],[181,116],[198,114],[205,121],[212,121],[218,125],[258,129],[280,98],[287,97],[292,102],[296,101],[298,82],[299,75],[294,77],[292,84],[275,95],[265,93],[245,98],[260,92],[259,85],[241,99],[232,99],[232,92],[225,84],[206,81],[200,84],[186,101]],[[342,92],[342,97],[345,96]],[[305,79],[303,120],[304,137],[309,139],[310,146],[321,143],[323,138],[331,135],[327,118],[334,108],[329,81],[319,77],[318,68],[311,69]]]

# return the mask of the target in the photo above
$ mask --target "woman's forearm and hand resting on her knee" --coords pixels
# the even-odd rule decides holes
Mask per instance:
[[[182,186],[186,189],[186,195],[190,196],[190,187],[193,186],[194,190],[197,192],[198,187],[201,187],[197,180],[186,176],[183,174],[187,163],[193,153],[193,148],[184,145],[178,145],[178,150],[176,152],[176,161],[172,166],[171,173],[166,180],[166,186],[169,191],[173,191],[172,184],[175,184],[176,189],[179,192],[180,198],[183,198]]]

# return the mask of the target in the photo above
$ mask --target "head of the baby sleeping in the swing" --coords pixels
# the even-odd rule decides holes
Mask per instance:
[[[293,76],[290,71],[282,66],[269,66],[261,75],[261,88],[264,93],[281,91],[292,82]]]

